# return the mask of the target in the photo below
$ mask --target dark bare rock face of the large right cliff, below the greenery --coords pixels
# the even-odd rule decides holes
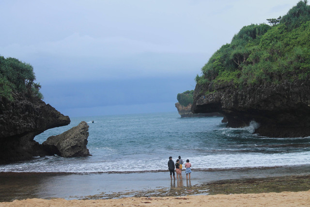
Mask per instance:
[[[212,93],[205,95],[206,91]],[[196,85],[192,111],[223,113],[227,127],[244,127],[255,121],[260,126],[255,133],[262,136],[310,136],[310,81],[243,85],[241,89],[232,83]]]

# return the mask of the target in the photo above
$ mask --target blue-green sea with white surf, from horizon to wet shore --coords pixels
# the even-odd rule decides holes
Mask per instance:
[[[92,123],[92,120],[94,123]],[[0,172],[167,171],[169,156],[189,159],[193,170],[310,165],[310,137],[268,138],[245,128],[226,128],[222,117],[180,118],[177,112],[75,117],[65,127],[35,137],[43,143],[81,121],[89,124],[91,157],[47,156],[0,165]]]

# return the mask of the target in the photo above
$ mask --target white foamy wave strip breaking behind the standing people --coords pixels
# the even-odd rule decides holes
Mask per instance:
[[[221,154],[203,155],[185,158],[189,159],[192,168],[221,169],[245,167],[273,167],[287,165],[309,165],[310,152],[277,153],[277,154]],[[174,160],[175,161],[175,160]],[[1,165],[0,172],[68,172],[68,173],[96,173],[96,172],[126,172],[167,170],[168,159],[153,160],[96,160],[65,159],[61,157],[40,158],[37,160]]]

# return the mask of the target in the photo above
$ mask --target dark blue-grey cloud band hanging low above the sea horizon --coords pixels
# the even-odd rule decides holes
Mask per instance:
[[[177,102],[176,96],[195,87],[183,77],[76,81],[42,86],[45,101],[61,109]]]

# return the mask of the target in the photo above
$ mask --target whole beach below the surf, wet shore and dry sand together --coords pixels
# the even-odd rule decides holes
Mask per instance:
[[[268,169],[264,170],[268,172]],[[243,173],[250,174],[250,171],[244,170]],[[262,169],[252,171],[258,173],[262,172]],[[235,172],[230,173],[236,176]],[[156,175],[159,178],[156,178]],[[205,171],[195,172],[193,175],[199,175],[201,178],[192,176],[191,180],[186,178],[171,180],[163,178],[162,175],[169,176],[169,173],[104,175],[1,173],[0,207],[310,206],[310,175],[257,177],[253,174],[242,176],[243,178],[239,176],[236,179],[218,179],[209,182],[203,177],[210,175]],[[103,178],[107,180],[102,180]],[[100,185],[104,185],[105,189],[100,189],[102,188]],[[94,194],[96,191],[97,194]]]

